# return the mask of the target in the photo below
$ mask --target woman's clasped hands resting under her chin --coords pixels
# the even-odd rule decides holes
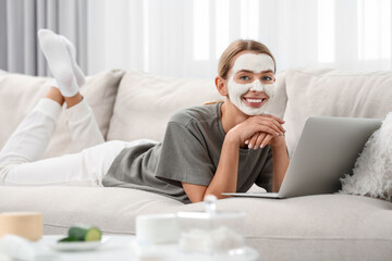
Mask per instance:
[[[257,149],[267,144],[278,146],[281,142],[284,144],[283,134],[285,129],[282,127],[283,123],[284,121],[270,114],[252,116],[230,129],[228,135],[236,140],[240,146],[247,144],[248,148]]]

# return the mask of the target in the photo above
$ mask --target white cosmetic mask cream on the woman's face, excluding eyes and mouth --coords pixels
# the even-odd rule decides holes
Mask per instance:
[[[260,73],[264,71],[274,71],[274,63],[270,55],[260,53],[245,53],[240,55],[233,65],[231,77],[229,78],[229,98],[231,102],[247,115],[259,115],[266,112],[267,108],[271,104],[274,91],[274,83],[261,84],[259,79],[249,84],[238,84],[234,80],[234,76],[238,71],[246,70],[254,73]],[[253,91],[265,91],[269,97],[268,100],[260,108],[253,108],[246,104],[243,100],[243,96]],[[258,102],[258,101],[256,101]]]

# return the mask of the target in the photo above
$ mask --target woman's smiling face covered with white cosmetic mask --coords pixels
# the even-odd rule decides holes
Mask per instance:
[[[274,62],[271,57],[252,51],[234,57],[229,72],[229,99],[247,115],[262,114],[272,101]]]

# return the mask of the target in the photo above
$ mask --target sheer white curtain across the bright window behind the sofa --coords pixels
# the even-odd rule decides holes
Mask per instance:
[[[88,0],[89,74],[211,78],[234,39],[292,66],[391,70],[391,0]]]

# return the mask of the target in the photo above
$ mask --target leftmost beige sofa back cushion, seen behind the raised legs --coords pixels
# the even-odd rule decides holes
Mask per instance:
[[[81,94],[91,107],[99,128],[106,137],[113,113],[113,104],[123,71],[112,70],[89,76],[81,88]],[[24,116],[29,113],[38,100],[48,91],[52,79],[12,74],[0,71],[0,148]],[[75,152],[69,134],[65,116],[61,114],[45,158]]]

